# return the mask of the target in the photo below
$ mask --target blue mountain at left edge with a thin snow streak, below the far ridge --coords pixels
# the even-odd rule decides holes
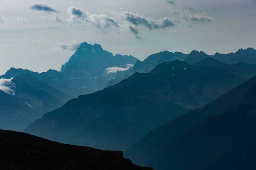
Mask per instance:
[[[44,113],[61,107],[71,99],[31,74],[22,74],[12,79],[13,94],[0,97],[2,129],[24,130]]]

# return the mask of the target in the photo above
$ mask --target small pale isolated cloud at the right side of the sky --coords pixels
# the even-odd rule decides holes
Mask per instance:
[[[212,21],[212,18],[210,16],[207,16],[206,14],[195,11],[193,9],[187,9],[186,11],[184,11],[182,17],[185,20],[191,20],[191,21],[195,21],[195,22],[210,22],[210,21]]]

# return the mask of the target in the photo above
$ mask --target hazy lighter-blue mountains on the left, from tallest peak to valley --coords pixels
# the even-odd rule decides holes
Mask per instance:
[[[137,61],[132,56],[113,56],[101,45],[84,42],[60,72],[49,70],[39,74],[11,68],[0,76],[2,80],[12,79],[12,91],[15,91],[14,96],[9,96],[9,103],[0,103],[4,106],[0,112],[3,122],[0,129],[24,130],[32,121],[68,100],[103,89],[117,70],[128,70]]]

